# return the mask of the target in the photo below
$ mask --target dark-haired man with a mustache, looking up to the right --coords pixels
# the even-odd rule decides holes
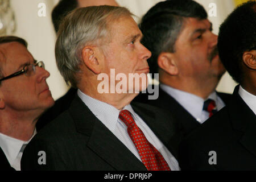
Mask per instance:
[[[136,100],[170,110],[189,134],[228,101],[215,88],[225,69],[218,58],[217,36],[204,7],[195,1],[157,3],[139,24],[142,44],[152,52],[151,73],[159,73],[159,97]]]

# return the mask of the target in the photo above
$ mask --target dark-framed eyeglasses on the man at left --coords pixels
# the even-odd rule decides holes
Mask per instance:
[[[40,68],[44,68],[44,63],[43,61],[39,61],[38,63],[34,63],[34,64],[27,64],[23,67],[22,70],[18,71],[18,72],[15,72],[7,77],[4,77],[4,78],[1,78],[0,81],[3,81],[3,80],[7,80],[9,78],[13,78],[15,76],[19,76],[19,75],[22,75],[23,73],[26,75],[26,76],[31,76],[31,75],[34,75],[35,72],[36,72],[36,68],[35,67],[40,67]]]

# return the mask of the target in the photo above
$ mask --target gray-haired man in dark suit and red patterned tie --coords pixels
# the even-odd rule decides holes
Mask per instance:
[[[124,7],[91,6],[65,16],[56,61],[77,95],[28,144],[22,169],[179,170],[175,119],[154,106],[131,103],[146,84],[125,80],[146,75],[151,56],[131,15]]]

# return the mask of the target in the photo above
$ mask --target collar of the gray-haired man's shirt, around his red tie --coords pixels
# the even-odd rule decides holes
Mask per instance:
[[[80,89],[77,90],[77,95],[81,98],[82,102],[92,111],[92,113],[106,126],[110,131],[114,131],[115,125],[117,125],[119,112],[112,105],[107,104],[106,102],[102,102],[92,98],[85,93],[82,93]],[[126,105],[123,109],[127,109],[133,114],[133,117],[136,117],[135,112],[131,105]]]

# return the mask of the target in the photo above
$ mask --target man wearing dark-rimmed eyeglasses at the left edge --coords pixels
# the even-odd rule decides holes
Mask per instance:
[[[0,170],[20,170],[26,144],[39,116],[54,104],[49,72],[15,36],[0,37]]]

